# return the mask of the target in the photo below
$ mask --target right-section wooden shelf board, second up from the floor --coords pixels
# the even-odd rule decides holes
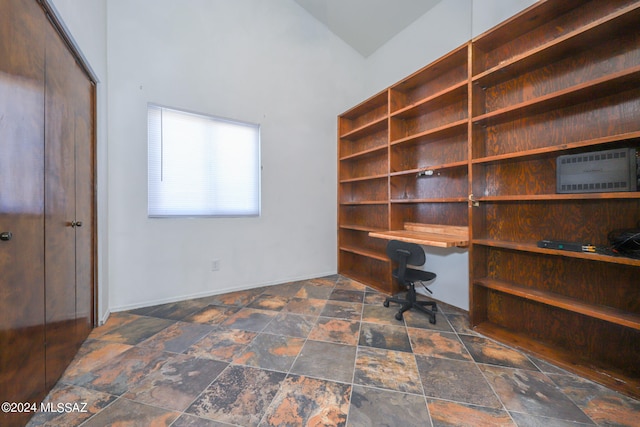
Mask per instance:
[[[483,278],[474,280],[474,285],[483,286],[498,292],[515,295],[531,301],[558,307],[563,310],[594,317],[606,322],[640,330],[640,315],[612,307],[588,304],[576,298],[566,297],[553,292],[533,289],[515,283]]]

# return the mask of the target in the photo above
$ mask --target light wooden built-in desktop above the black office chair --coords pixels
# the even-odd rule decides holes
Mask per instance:
[[[406,222],[404,230],[372,231],[371,237],[451,248],[469,246],[469,227]]]

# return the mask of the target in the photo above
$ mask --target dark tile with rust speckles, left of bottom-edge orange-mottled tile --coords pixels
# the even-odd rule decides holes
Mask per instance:
[[[257,426],[285,377],[283,372],[229,366],[185,412],[227,424]]]

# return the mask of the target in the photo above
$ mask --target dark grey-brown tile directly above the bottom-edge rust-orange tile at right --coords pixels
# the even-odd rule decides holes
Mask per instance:
[[[473,362],[416,355],[424,395],[472,405],[502,405]]]

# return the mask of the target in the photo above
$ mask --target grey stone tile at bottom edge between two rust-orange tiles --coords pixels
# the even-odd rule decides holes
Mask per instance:
[[[429,425],[422,395],[353,386],[349,427]]]

